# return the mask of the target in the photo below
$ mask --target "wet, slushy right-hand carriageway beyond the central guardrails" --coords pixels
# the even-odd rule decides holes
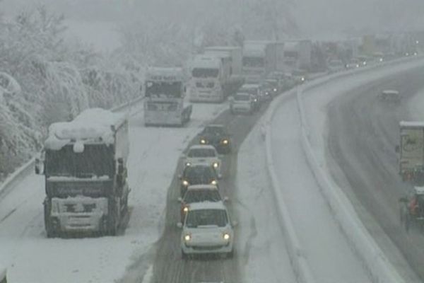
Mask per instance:
[[[423,74],[420,68],[369,83],[328,107],[329,155],[336,161],[336,180],[351,200],[357,199],[355,208],[365,226],[406,282],[424,280],[424,236],[406,233],[400,224],[398,200],[409,188],[398,175],[394,147],[399,144],[399,121],[424,119]],[[404,100],[399,105],[377,100],[384,89],[396,89]]]

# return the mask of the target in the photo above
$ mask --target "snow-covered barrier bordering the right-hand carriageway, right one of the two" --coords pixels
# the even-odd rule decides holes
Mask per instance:
[[[396,60],[395,62],[389,62],[384,66],[391,66],[394,64],[408,62],[408,60]],[[381,66],[381,65],[380,65]],[[352,73],[370,71],[372,69],[379,69],[379,66],[367,67],[360,70],[348,71],[341,74],[334,74],[326,78],[318,79],[312,83],[309,83],[305,88],[300,88],[297,93],[298,110],[301,117],[302,125],[302,146],[307,156],[307,162],[310,164],[310,168],[314,173],[319,187],[321,187],[322,193],[326,200],[329,202],[331,209],[334,211],[334,216],[341,229],[345,233],[348,241],[351,242],[353,248],[358,251],[358,254],[363,259],[365,267],[370,272],[372,280],[374,282],[384,283],[401,283],[405,282],[399,273],[395,270],[394,266],[387,259],[386,255],[379,248],[375,239],[370,236],[367,229],[360,221],[358,215],[353,208],[353,205],[348,200],[346,195],[342,192],[339,187],[336,187],[329,179],[329,176],[324,171],[323,166],[319,163],[317,156],[312,149],[310,142],[310,129],[307,125],[307,119],[305,115],[305,109],[303,105],[302,96],[306,90],[317,88],[325,83],[331,82],[333,79],[340,79],[344,76],[349,76]]]

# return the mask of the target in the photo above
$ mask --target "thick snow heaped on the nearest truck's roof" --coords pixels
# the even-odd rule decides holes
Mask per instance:
[[[71,122],[56,122],[49,127],[45,141],[47,149],[59,150],[71,141],[93,141],[102,139],[114,142],[114,129],[126,120],[125,115],[101,108],[84,110]]]

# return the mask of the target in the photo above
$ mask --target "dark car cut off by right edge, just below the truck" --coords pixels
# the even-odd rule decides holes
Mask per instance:
[[[406,231],[416,226],[424,231],[424,187],[414,187],[411,197],[401,197],[400,217],[401,224]]]

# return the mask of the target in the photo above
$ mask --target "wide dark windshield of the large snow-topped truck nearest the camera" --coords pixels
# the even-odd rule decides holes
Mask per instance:
[[[86,144],[82,153],[75,153],[72,144],[57,151],[46,150],[45,174],[78,178],[112,176],[114,174],[113,146]]]

